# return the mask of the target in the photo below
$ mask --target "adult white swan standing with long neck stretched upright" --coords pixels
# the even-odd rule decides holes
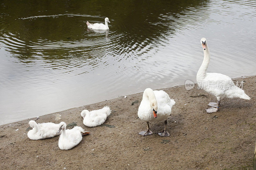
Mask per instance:
[[[202,38],[200,42],[204,49],[204,60],[196,74],[196,82],[200,88],[213,94],[218,100],[218,103],[210,102],[208,106],[211,108],[206,109],[206,112],[219,111],[220,101],[224,97],[250,100],[251,98],[244,93],[244,90],[238,88],[230,77],[220,73],[206,73],[210,63],[210,51],[205,38]]]

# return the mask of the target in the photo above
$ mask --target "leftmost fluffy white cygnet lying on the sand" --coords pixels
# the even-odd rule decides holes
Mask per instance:
[[[59,124],[52,122],[37,124],[35,121],[29,121],[28,124],[31,127],[31,130],[28,131],[29,139],[39,140],[60,135]]]

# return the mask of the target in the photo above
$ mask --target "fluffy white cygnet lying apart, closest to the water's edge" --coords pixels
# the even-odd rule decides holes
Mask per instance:
[[[110,115],[111,110],[108,106],[103,107],[99,110],[83,110],[81,116],[84,118],[84,125],[88,127],[99,126],[104,123],[107,117]]]

